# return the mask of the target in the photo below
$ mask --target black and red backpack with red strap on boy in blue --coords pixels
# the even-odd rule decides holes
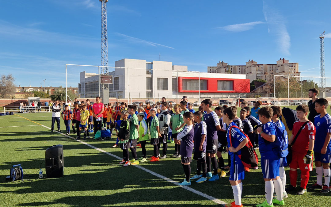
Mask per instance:
[[[254,168],[258,166],[259,163],[259,159],[258,159],[258,155],[256,154],[255,150],[254,150],[254,146],[251,142],[251,140],[249,139],[249,137],[247,136],[247,134],[245,134],[239,127],[237,126],[231,126],[230,127],[230,146],[232,147],[232,142],[231,142],[231,129],[232,128],[237,128],[241,131],[241,133],[243,133],[246,138],[248,139],[247,144],[245,144],[245,146],[243,148],[241,148],[241,155],[238,155],[237,153],[235,153],[236,155],[238,155],[239,159],[241,160],[241,162],[243,163],[243,165],[247,168]]]

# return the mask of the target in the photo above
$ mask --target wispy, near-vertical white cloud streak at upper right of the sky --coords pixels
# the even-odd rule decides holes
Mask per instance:
[[[285,55],[290,55],[291,38],[285,26],[284,17],[276,8],[271,8],[263,1],[263,14],[268,24],[268,32],[277,37],[279,50]]]

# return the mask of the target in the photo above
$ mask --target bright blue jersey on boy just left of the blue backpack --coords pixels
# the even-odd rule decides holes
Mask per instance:
[[[267,122],[262,126],[262,131],[268,135],[276,136],[276,127],[277,126],[275,126],[273,122]],[[261,158],[270,160],[279,159],[278,155],[275,155],[275,153],[272,151],[274,145],[271,143],[272,142],[263,139],[259,134],[259,151]]]

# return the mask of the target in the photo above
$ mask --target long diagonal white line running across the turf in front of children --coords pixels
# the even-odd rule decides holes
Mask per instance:
[[[41,125],[41,126],[47,128],[47,129],[51,129],[51,128],[46,127],[46,126],[44,126],[44,125]],[[64,134],[64,133],[62,133],[62,132],[58,132],[58,131],[55,131],[55,130],[54,130],[54,132],[57,132],[57,133],[62,134],[62,135],[64,135],[64,136],[66,136],[66,137],[69,137],[69,138],[71,138],[71,139],[76,140],[75,138],[73,138],[73,137],[71,137],[71,136],[68,136],[68,135],[66,135],[66,134]],[[105,154],[107,154],[107,155],[110,155],[110,156],[112,156],[112,157],[114,157],[114,158],[116,158],[116,159],[118,159],[118,160],[122,160],[122,158],[120,158],[120,157],[118,157],[118,156],[116,156],[116,155],[114,155],[114,154],[112,154],[112,153],[110,153],[110,152],[106,152],[105,150],[102,150],[102,149],[100,149],[100,148],[97,148],[97,147],[95,147],[95,146],[93,146],[93,145],[90,145],[90,144],[88,144],[88,143],[86,143],[86,142],[83,142],[83,141],[81,141],[81,140],[76,140],[76,141],[78,141],[78,142],[80,142],[80,143],[82,143],[82,144],[85,144],[85,145],[87,145],[87,146],[89,146],[89,147],[91,147],[91,148],[93,148],[93,149],[96,149],[96,150],[98,150],[98,151],[100,151],[100,152],[103,152],[103,153],[105,153]],[[154,176],[156,176],[156,177],[158,177],[158,178],[161,178],[161,179],[163,179],[163,180],[165,180],[165,181],[171,182],[171,183],[174,184],[174,185],[178,185],[179,187],[182,187],[182,188],[184,188],[184,189],[186,189],[186,190],[188,190],[188,191],[191,191],[192,193],[195,193],[195,194],[197,194],[197,195],[200,195],[200,196],[202,196],[202,197],[205,197],[205,198],[207,198],[207,199],[209,199],[209,200],[211,200],[211,201],[213,201],[213,202],[215,202],[215,203],[217,203],[217,204],[226,204],[224,201],[221,201],[221,200],[219,200],[219,199],[217,199],[217,198],[214,198],[213,196],[207,195],[206,193],[202,193],[202,192],[200,192],[200,191],[198,191],[198,190],[196,190],[196,189],[193,189],[193,188],[191,188],[191,187],[189,187],[189,186],[182,186],[182,185],[179,185],[178,182],[173,181],[173,180],[171,180],[170,178],[167,178],[167,177],[165,177],[165,176],[163,176],[163,175],[160,175],[160,174],[158,174],[158,173],[155,173],[155,172],[153,172],[153,171],[151,171],[151,170],[148,170],[148,169],[146,169],[146,168],[144,168],[144,167],[142,167],[142,166],[139,166],[139,165],[133,165],[133,166],[134,166],[134,167],[137,167],[137,168],[139,168],[139,169],[141,169],[141,170],[143,170],[143,171],[145,171],[145,172],[147,172],[147,173],[150,173],[150,174],[152,174],[152,175],[154,175]],[[223,205],[223,206],[224,206],[224,205]]]

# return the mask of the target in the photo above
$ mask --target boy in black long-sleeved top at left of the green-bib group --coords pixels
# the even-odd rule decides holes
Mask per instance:
[[[124,110],[121,112],[121,125],[119,127],[118,137],[119,140],[119,147],[123,151],[123,160],[119,162],[119,164],[124,163],[124,167],[130,165],[130,154],[129,154],[129,148],[130,148],[130,123],[127,120],[127,117],[129,116],[129,112]]]

